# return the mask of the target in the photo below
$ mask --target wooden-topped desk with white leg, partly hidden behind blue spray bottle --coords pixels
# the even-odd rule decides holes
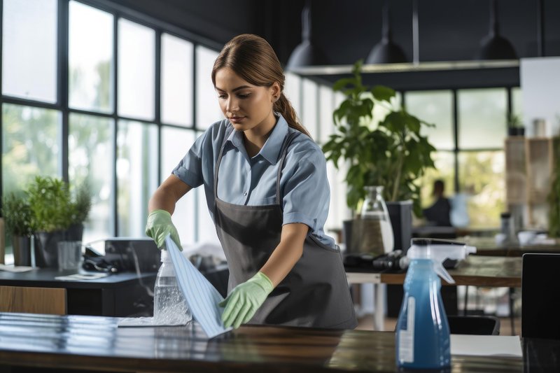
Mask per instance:
[[[449,274],[455,280],[454,285],[473,285],[486,287],[521,287],[521,258],[469,255]],[[406,272],[373,272],[363,268],[346,267],[346,279],[349,283],[373,283],[375,288],[376,312],[374,314],[375,330],[383,330],[385,297],[381,283],[402,284]],[[449,285],[442,280],[443,285]],[[378,307],[379,306],[379,307]]]

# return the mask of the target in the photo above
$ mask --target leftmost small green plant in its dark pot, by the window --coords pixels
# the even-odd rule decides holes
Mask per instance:
[[[25,195],[11,192],[4,196],[2,216],[12,241],[14,265],[31,265],[31,235],[34,227]]]

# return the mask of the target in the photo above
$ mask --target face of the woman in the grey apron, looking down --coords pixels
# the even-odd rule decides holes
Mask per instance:
[[[252,85],[229,67],[216,71],[215,79],[222,113],[237,131],[251,130],[264,135],[274,127],[272,107],[280,96],[278,83],[271,87]]]

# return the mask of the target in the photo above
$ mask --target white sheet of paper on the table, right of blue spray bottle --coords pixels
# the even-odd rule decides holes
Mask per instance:
[[[518,335],[451,335],[451,355],[516,356],[521,358]]]

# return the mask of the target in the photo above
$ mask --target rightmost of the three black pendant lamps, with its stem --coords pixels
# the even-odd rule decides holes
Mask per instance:
[[[500,35],[496,0],[490,2],[490,31],[480,41],[475,59],[517,59],[512,43]]]

